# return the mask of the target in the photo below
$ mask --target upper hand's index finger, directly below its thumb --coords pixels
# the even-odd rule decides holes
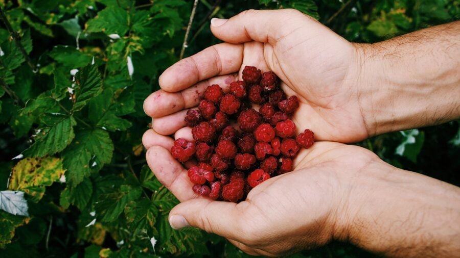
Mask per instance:
[[[159,85],[165,91],[177,92],[213,76],[236,72],[242,61],[243,45],[210,46],[166,69],[160,75]]]

